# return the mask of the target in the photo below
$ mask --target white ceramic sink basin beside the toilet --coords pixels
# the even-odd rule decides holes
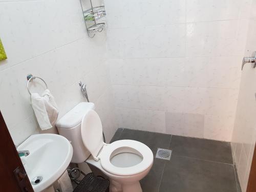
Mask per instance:
[[[17,147],[17,151],[28,150],[21,157],[35,192],[51,186],[65,172],[73,155],[69,140],[56,134],[31,135]]]

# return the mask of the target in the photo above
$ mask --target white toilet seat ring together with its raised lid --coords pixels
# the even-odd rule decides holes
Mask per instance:
[[[84,146],[91,153],[95,161],[106,172],[117,176],[133,176],[144,172],[153,164],[153,153],[145,144],[135,140],[119,140],[106,144],[102,139],[102,124],[98,114],[89,110],[81,121],[81,137]],[[141,156],[140,163],[133,166],[117,167],[111,163],[111,158],[121,153],[133,153]]]

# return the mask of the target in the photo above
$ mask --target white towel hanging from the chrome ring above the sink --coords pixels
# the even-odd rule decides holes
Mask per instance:
[[[45,90],[42,96],[32,93],[31,103],[41,130],[51,129],[56,123],[59,112],[50,91]]]

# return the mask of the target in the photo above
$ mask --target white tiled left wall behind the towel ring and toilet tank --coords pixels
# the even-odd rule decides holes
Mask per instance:
[[[26,87],[28,73],[48,83],[59,117],[86,101],[78,81],[86,82],[109,141],[117,125],[104,63],[105,34],[88,37],[79,0],[0,0],[0,29],[8,56],[0,62],[0,110],[15,144],[39,132]]]

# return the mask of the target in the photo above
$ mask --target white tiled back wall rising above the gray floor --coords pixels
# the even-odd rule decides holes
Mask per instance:
[[[251,0],[105,0],[119,127],[230,141]]]

